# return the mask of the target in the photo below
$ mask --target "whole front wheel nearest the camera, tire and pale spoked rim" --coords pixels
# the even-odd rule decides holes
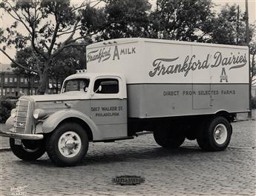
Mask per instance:
[[[88,151],[88,136],[79,124],[61,124],[48,135],[46,151],[57,166],[75,166]]]

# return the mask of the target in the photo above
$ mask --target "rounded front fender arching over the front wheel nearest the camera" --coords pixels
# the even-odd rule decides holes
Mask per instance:
[[[48,116],[48,118],[42,124],[42,131],[45,133],[52,132],[56,126],[58,126],[62,121],[67,118],[79,118],[80,120],[84,121],[91,129],[93,134],[93,141],[94,140],[101,140],[102,134],[99,132],[98,127],[88,115],[85,115],[82,112],[79,112],[75,109],[65,109],[60,110],[58,112],[54,112],[52,115]]]

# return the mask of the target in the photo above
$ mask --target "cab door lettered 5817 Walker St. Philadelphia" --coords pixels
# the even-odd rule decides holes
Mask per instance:
[[[123,84],[121,78],[114,76],[97,77],[93,82],[91,118],[104,140],[128,136],[127,98]]]

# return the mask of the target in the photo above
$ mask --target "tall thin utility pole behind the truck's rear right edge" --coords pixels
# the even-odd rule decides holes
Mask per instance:
[[[248,0],[246,0],[246,44],[249,47],[249,13],[248,13]],[[249,53],[249,109],[248,118],[252,118],[252,73],[250,64],[250,53]]]

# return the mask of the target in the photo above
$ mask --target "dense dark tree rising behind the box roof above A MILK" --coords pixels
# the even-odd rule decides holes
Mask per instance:
[[[147,0],[108,0],[105,6],[106,25],[100,38],[145,37],[148,30]]]

